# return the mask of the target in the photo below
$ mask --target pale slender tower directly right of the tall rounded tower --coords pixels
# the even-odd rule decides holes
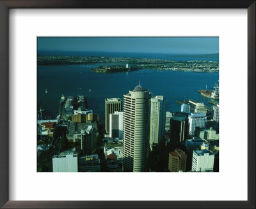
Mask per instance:
[[[150,111],[150,148],[161,143],[165,129],[166,100],[164,96],[156,96],[151,99]]]

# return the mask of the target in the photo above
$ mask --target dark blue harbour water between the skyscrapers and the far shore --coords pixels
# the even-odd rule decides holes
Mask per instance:
[[[207,59],[209,60],[209,59]],[[102,65],[102,64],[100,64]],[[176,100],[195,99],[211,106],[207,97],[197,92],[213,87],[219,73],[194,73],[184,71],[161,71],[142,69],[127,73],[95,73],[91,68],[99,64],[83,66],[38,66],[38,105],[45,109],[44,117],[56,118],[62,94],[67,96],[84,95],[88,107],[104,118],[104,99],[119,97],[134,89],[140,80],[141,86],[149,89],[154,96],[163,95],[167,100],[167,110],[180,111]],[[81,89],[80,89],[81,88]],[[48,93],[45,93],[45,89]],[[90,91],[91,89],[91,91]]]

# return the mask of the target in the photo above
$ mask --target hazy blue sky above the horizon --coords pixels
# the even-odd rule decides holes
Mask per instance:
[[[38,51],[148,52],[211,54],[219,52],[218,37],[38,37]]]

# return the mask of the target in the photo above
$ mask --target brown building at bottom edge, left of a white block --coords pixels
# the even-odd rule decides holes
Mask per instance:
[[[168,169],[171,172],[186,171],[187,155],[180,148],[169,153]]]

